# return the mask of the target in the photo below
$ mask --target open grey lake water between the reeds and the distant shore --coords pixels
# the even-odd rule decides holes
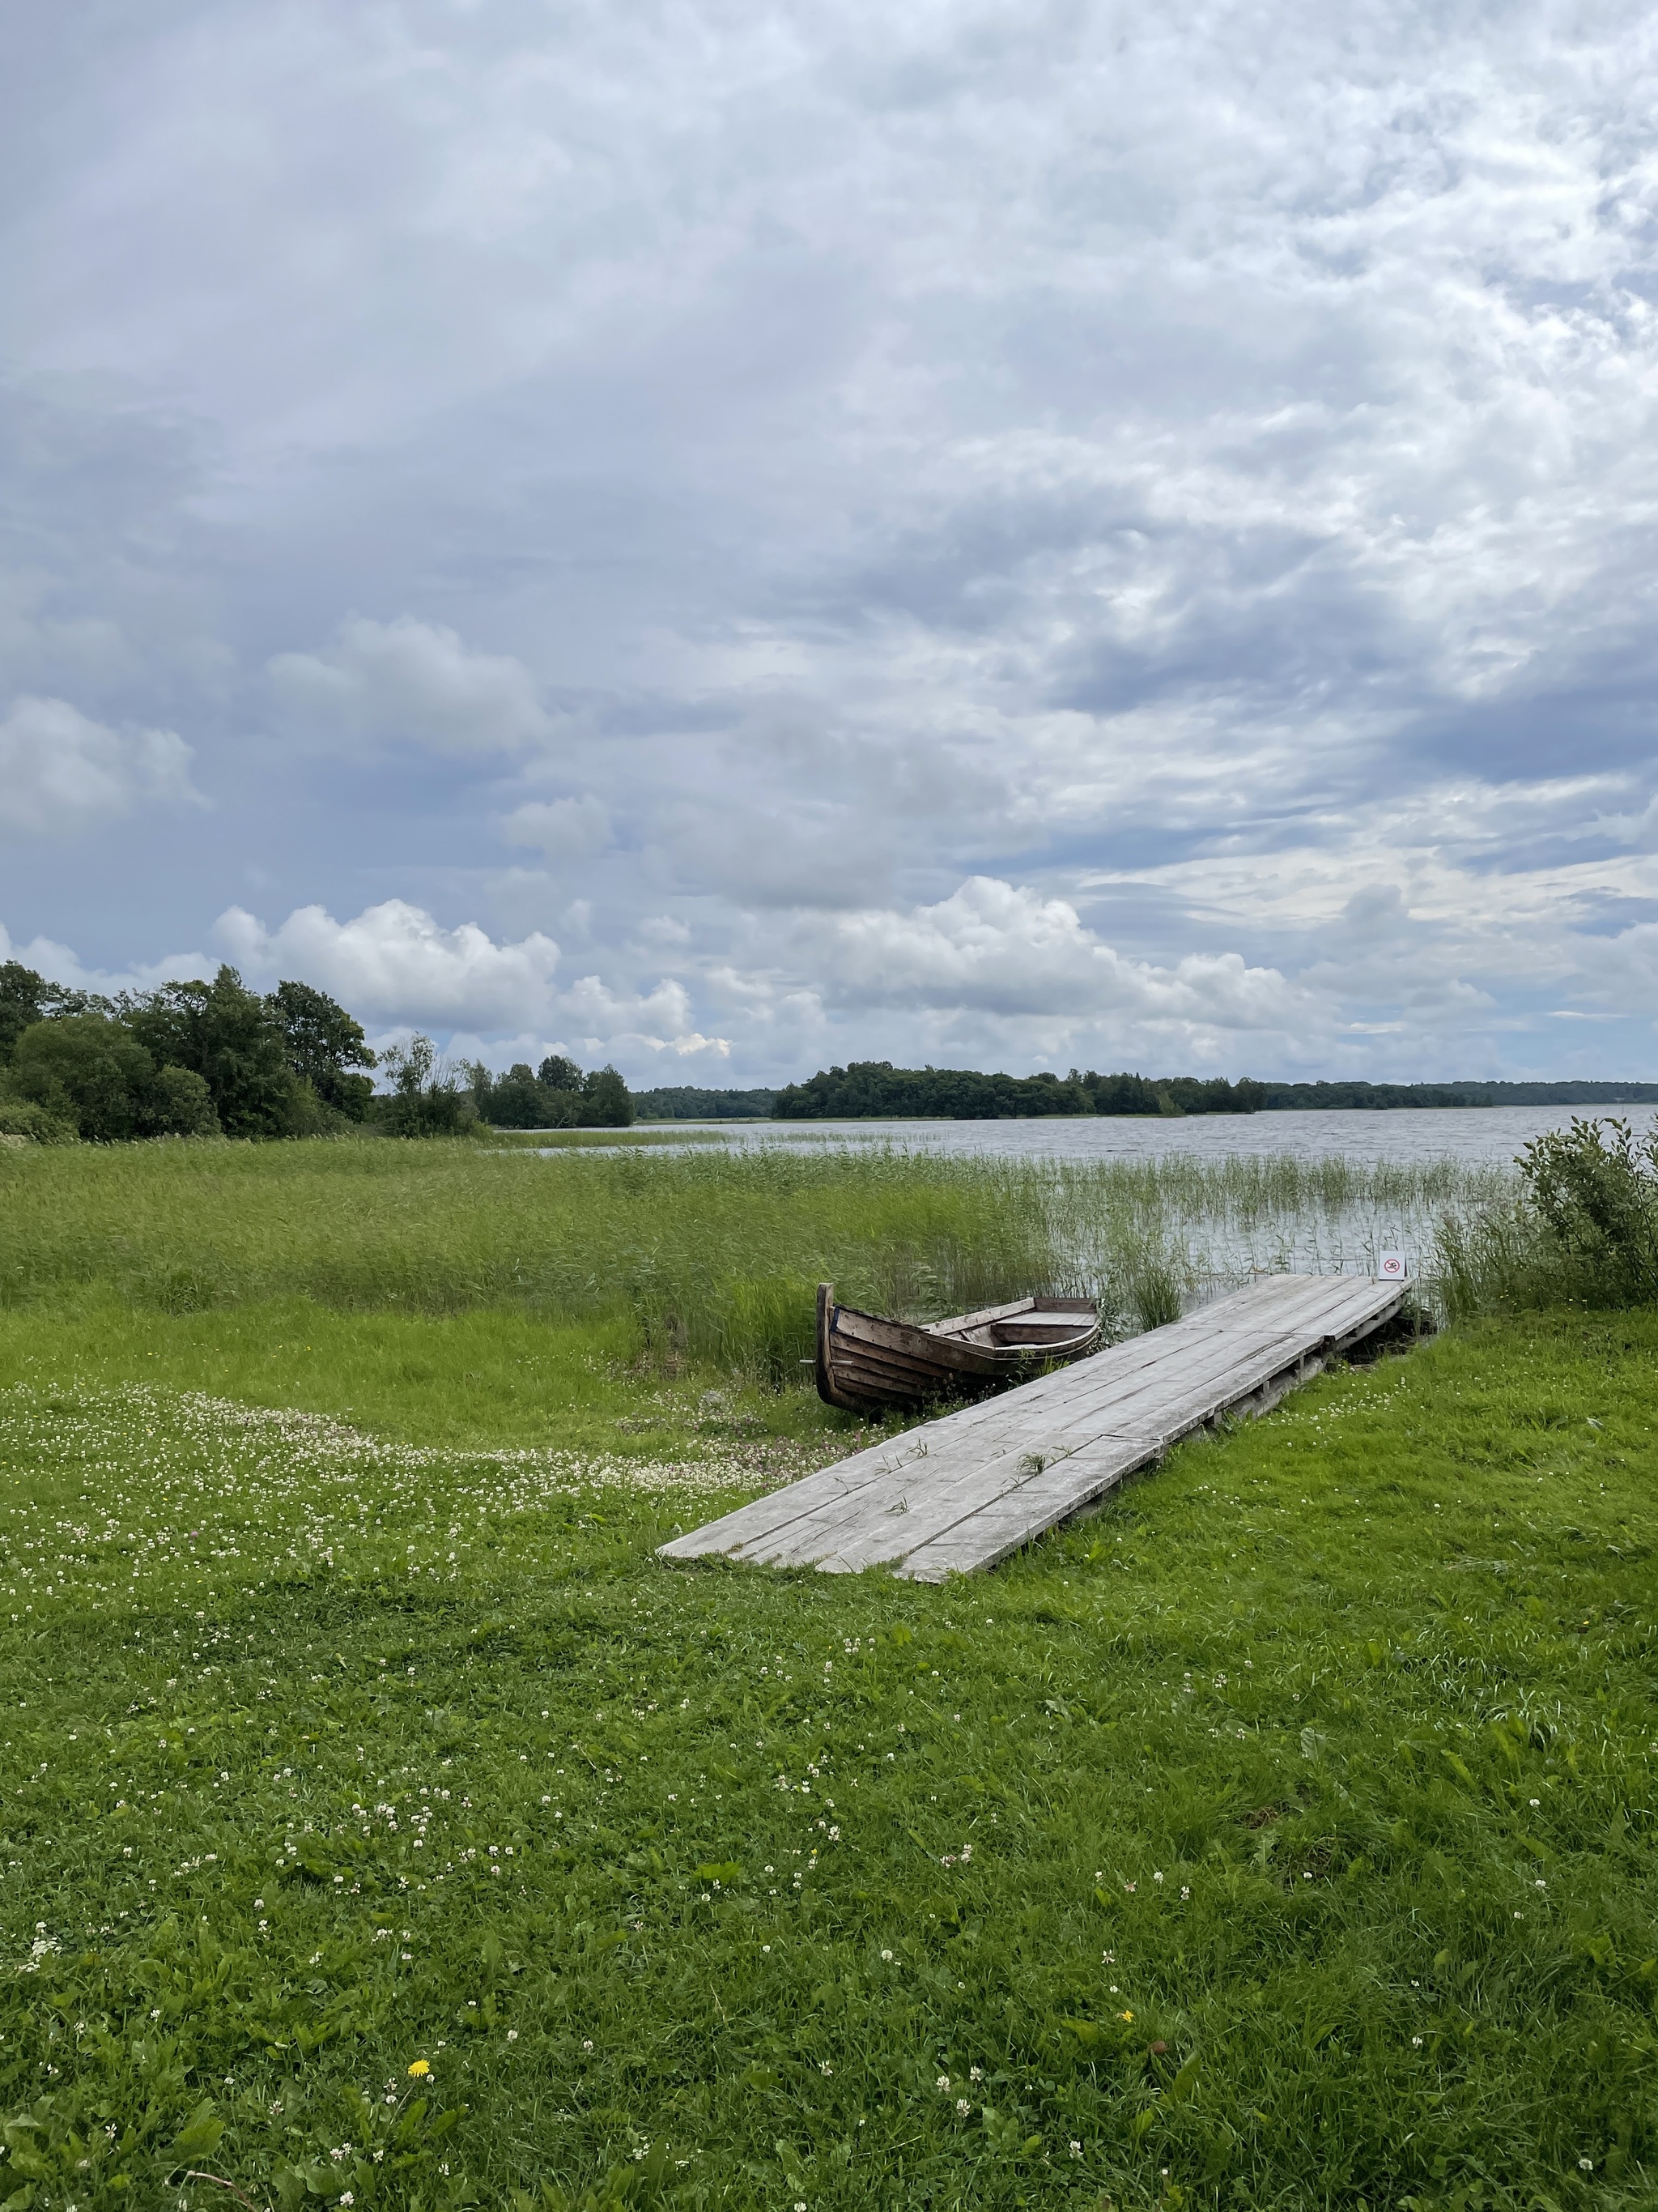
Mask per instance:
[[[1616,1110],[1616,1108],[1614,1108]],[[1645,1124],[1647,1106],[1623,1108]],[[1101,1115],[1052,1121],[688,1121],[734,1146],[893,1144],[926,1152],[1001,1152],[1015,1159],[1150,1159],[1185,1152],[1291,1152],[1298,1159],[1463,1159],[1505,1166],[1530,1137],[1565,1128],[1585,1106],[1450,1106],[1395,1113]],[[652,1124],[661,1128],[663,1124]],[[654,1148],[652,1148],[654,1150]],[[672,1146],[668,1148],[672,1150]]]

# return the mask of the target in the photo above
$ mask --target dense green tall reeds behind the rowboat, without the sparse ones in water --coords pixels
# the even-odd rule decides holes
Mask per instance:
[[[988,1159],[175,1144],[31,1148],[0,1172],[7,1305],[630,1314],[657,1363],[785,1380],[820,1279],[915,1318],[1070,1281],[1043,1192]]]

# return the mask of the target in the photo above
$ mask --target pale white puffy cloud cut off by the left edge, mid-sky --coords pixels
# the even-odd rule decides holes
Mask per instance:
[[[66,699],[13,699],[0,721],[0,832],[75,836],[146,799],[201,803],[177,730],[111,730]]]

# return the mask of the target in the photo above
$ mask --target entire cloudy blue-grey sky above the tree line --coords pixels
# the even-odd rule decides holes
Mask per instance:
[[[13,11],[0,958],[1656,1077],[1656,431],[1643,4]]]

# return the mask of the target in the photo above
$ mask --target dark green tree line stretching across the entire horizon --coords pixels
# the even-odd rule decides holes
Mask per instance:
[[[376,1075],[382,1088],[376,1088]],[[1214,1075],[1006,1075],[853,1060],[780,1091],[692,1084],[632,1095],[617,1068],[562,1053],[497,1075],[451,1064],[431,1037],[376,1053],[363,1024],[305,982],[250,991],[234,967],[113,998],[0,964],[0,1137],[42,1144],[137,1137],[442,1137],[475,1128],[626,1128],[676,1119],[953,1119],[1216,1115],[1293,1108],[1654,1104],[1618,1082],[1236,1082]]]

